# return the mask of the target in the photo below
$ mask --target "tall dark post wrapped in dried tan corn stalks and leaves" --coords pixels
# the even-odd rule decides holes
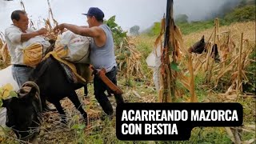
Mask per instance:
[[[172,2],[172,1],[171,1]],[[182,83],[182,86],[186,87],[187,90],[190,90],[191,102],[197,102],[197,97],[194,93],[194,70],[191,55],[185,48],[183,43],[182,33],[178,29],[178,26],[174,25],[172,17],[172,6],[167,2],[167,16],[166,16],[166,34],[165,34],[165,46],[162,50],[162,69],[160,77],[160,86],[159,91],[159,102],[174,102],[180,91],[176,87],[176,80]],[[170,16],[169,15],[170,12]],[[162,27],[163,27],[162,21]],[[172,33],[171,33],[172,32]],[[160,39],[162,38],[162,30],[158,38],[155,41],[155,45],[159,45]],[[188,58],[188,61],[181,61],[182,55]],[[170,63],[171,62],[171,63]],[[190,72],[190,77],[186,77],[183,73],[184,71],[172,70],[170,65],[177,64],[182,62],[183,66],[187,66]]]

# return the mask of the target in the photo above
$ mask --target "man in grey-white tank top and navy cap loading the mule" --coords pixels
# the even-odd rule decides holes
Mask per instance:
[[[62,23],[54,28],[54,31],[67,30],[74,34],[80,34],[93,38],[90,43],[90,63],[97,69],[106,69],[106,77],[117,85],[117,63],[114,56],[114,40],[109,26],[103,23],[104,13],[98,7],[90,7],[87,14],[87,22],[89,26],[75,26]],[[94,77],[94,94],[104,112],[108,115],[113,114],[113,108],[109,99],[104,93],[108,87],[100,78]],[[114,94],[117,104],[122,104],[122,95]]]

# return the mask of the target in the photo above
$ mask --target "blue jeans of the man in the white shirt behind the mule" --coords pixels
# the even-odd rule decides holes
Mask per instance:
[[[18,83],[19,88],[23,83],[29,81],[32,70],[34,70],[32,67],[11,67],[14,80]]]

